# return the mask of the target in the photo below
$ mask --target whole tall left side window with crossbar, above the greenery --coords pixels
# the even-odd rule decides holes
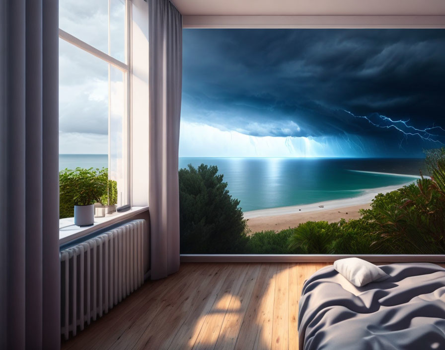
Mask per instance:
[[[130,7],[60,0],[60,170],[108,170],[129,203]]]

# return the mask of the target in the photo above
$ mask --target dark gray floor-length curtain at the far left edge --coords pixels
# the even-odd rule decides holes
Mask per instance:
[[[0,0],[0,348],[60,348],[58,1]]]

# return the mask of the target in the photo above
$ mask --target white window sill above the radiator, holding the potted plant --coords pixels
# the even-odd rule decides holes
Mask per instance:
[[[120,221],[129,219],[147,210],[148,207],[131,207],[130,210],[122,213],[116,213],[115,215],[105,216],[101,218],[94,218],[93,225],[82,227],[74,225],[74,218],[60,219],[59,245],[69,243],[100,229],[104,229],[113,224],[117,224]]]

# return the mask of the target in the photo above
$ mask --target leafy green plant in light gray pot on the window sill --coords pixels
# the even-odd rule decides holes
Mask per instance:
[[[103,181],[99,169],[68,170],[61,172],[61,196],[73,198],[74,225],[94,224],[94,203],[103,195],[107,182]]]

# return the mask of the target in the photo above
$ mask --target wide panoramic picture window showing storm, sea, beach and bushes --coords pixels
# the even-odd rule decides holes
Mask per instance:
[[[183,254],[444,254],[445,31],[184,29]]]

